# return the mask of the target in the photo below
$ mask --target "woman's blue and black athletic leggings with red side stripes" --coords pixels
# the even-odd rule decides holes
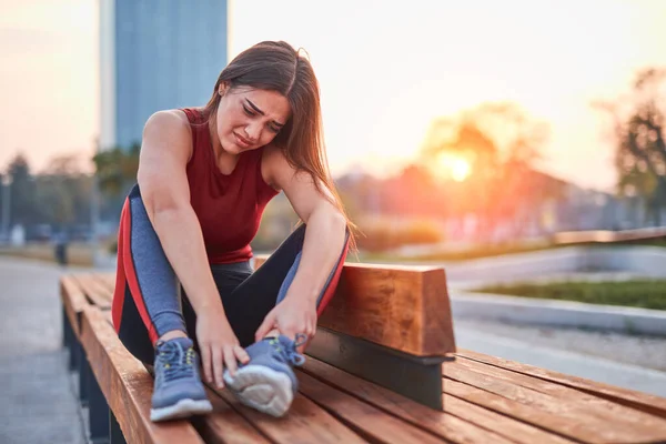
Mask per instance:
[[[305,225],[301,225],[256,272],[249,261],[210,265],[226,319],[242,346],[254,342],[265,315],[285,296],[301,261],[304,238]],[[333,296],[347,248],[349,231],[317,299],[317,314]],[[147,364],[154,361],[158,339],[172,330],[185,332],[199,350],[196,315],[148,219],[138,185],[125,200],[120,219],[112,317],[121,342]]]

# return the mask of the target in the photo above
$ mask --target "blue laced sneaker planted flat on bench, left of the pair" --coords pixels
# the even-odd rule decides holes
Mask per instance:
[[[213,410],[199,375],[199,360],[190,339],[158,342],[154,370],[151,421],[189,417]]]

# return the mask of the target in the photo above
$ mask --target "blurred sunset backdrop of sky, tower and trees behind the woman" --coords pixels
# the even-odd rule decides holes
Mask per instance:
[[[665,225],[665,18],[658,0],[2,0],[0,239],[112,254],[148,117],[204,104],[268,39],[310,54],[361,258]],[[255,249],[294,222],[275,199]]]

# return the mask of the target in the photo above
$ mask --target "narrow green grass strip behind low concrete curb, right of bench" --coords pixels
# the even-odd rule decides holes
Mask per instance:
[[[666,310],[666,280],[490,285],[482,293]]]

